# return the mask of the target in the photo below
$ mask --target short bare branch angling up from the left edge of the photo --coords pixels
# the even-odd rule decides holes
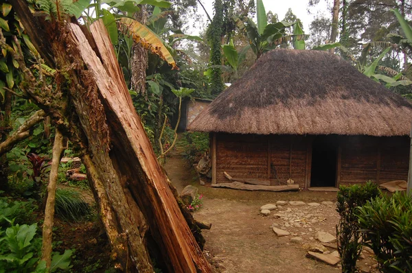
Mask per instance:
[[[14,132],[10,137],[8,137],[8,139],[0,143],[0,156],[12,150],[14,145],[19,143],[19,141],[22,141],[23,139],[29,137],[30,128],[35,126],[40,121],[43,121],[45,117],[45,111],[38,110],[34,113],[34,115],[32,115],[32,117],[29,117],[26,121],[24,121],[23,124],[19,127],[19,129],[16,130],[16,132]]]

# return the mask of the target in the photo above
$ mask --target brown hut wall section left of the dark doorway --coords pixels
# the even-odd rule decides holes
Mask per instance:
[[[271,180],[271,185],[286,185],[291,178],[305,187],[307,140],[297,136],[216,134],[216,182],[233,177]]]

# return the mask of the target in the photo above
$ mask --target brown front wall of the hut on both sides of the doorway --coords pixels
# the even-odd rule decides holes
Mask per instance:
[[[299,187],[310,183],[312,137],[288,135],[214,134],[216,168],[214,182],[229,182],[223,175],[270,179],[271,185],[286,185],[291,178]],[[339,185],[367,180],[407,180],[409,163],[407,137],[339,137]]]

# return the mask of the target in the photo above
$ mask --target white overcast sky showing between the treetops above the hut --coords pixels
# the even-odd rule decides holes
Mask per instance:
[[[225,0],[223,0],[225,1]],[[310,13],[308,14],[308,2],[309,0],[263,0],[264,8],[266,13],[270,10],[273,14],[277,13],[279,20],[282,21],[288,9],[291,8],[292,12],[297,16],[297,18],[301,19],[304,23],[304,31],[306,34],[309,32],[309,25],[310,22],[314,19],[314,15],[317,12],[323,13],[325,16],[330,16],[332,18],[332,14],[328,11],[328,5],[331,5],[333,0],[320,0],[317,4],[317,7],[310,8]],[[207,13],[213,18],[214,10],[213,10],[213,2],[214,0],[201,0]],[[199,5],[198,12],[203,14],[204,21],[203,23],[207,22],[207,17],[203,8]],[[201,27],[201,26],[199,26]],[[199,34],[198,26],[196,29],[192,29],[192,34]]]

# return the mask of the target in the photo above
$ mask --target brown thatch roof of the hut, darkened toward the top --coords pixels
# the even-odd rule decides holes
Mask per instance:
[[[189,130],[241,134],[409,134],[412,105],[324,51],[276,49],[194,119]]]

